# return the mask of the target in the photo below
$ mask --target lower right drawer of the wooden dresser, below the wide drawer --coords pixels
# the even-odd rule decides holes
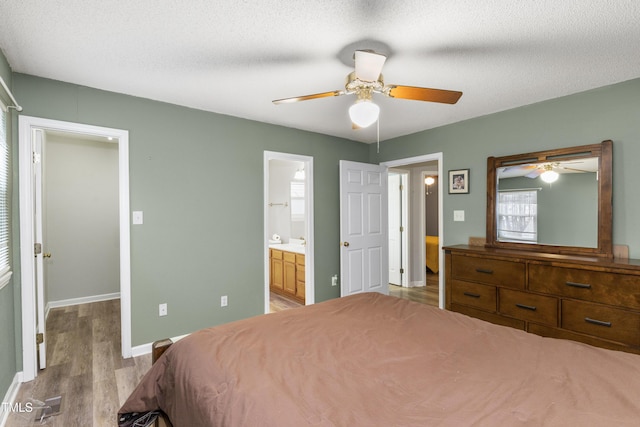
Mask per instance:
[[[562,301],[562,327],[640,346],[640,313],[582,301]]]

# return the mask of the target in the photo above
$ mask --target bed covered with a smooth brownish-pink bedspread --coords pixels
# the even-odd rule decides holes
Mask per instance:
[[[638,426],[640,356],[377,293],[195,332],[121,414],[174,426]]]

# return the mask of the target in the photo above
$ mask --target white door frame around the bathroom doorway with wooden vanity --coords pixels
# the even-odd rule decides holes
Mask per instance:
[[[290,154],[290,153],[279,153],[275,151],[265,151],[264,152],[264,189],[263,189],[263,198],[264,198],[264,312],[269,313],[271,311],[271,307],[269,306],[269,160],[289,160],[293,162],[302,162],[304,163],[305,170],[305,212],[306,212],[306,221],[305,221],[305,233],[306,233],[306,243],[305,243],[305,271],[304,271],[304,301],[305,305],[314,304],[316,301],[315,297],[315,283],[313,280],[313,271],[314,271],[314,256],[313,256],[313,157],[311,156],[303,156],[299,154]]]

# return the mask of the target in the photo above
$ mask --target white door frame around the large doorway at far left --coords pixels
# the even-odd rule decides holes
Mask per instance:
[[[118,144],[120,217],[120,305],[122,357],[131,357],[131,249],[129,225],[129,132],[80,123],[19,116],[20,263],[22,287],[22,380],[37,375],[33,256],[32,135],[34,129],[112,137]]]

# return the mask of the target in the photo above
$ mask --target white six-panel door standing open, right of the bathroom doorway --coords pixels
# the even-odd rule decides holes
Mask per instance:
[[[340,161],[340,295],[389,293],[387,168]]]

